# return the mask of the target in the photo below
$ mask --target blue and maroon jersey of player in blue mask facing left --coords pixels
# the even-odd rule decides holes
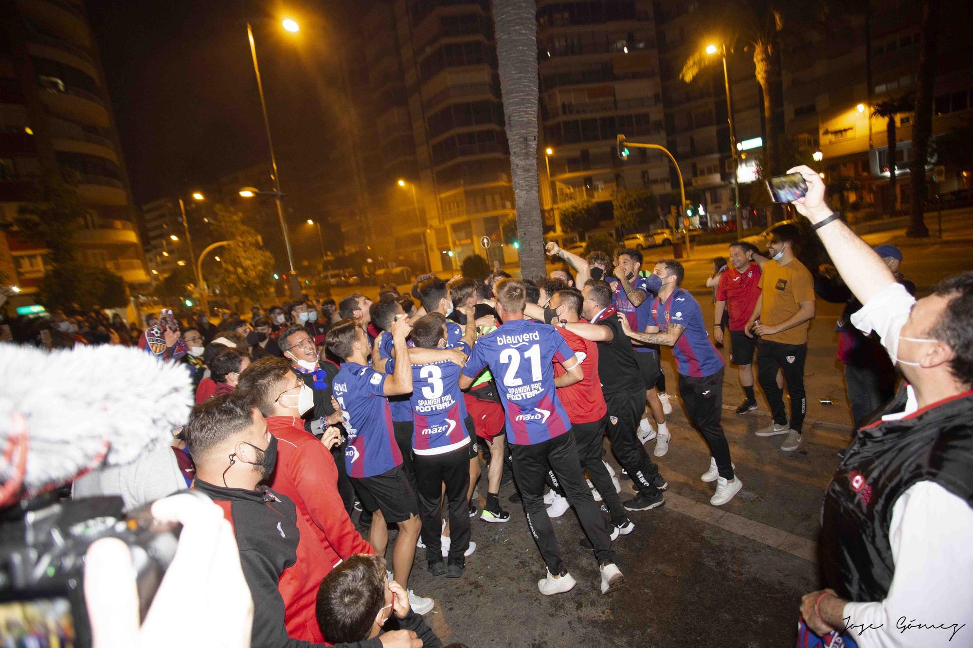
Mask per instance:
[[[683,376],[704,378],[723,368],[723,356],[709,342],[700,303],[688,291],[676,288],[665,304],[658,297],[653,298],[647,324],[658,326],[660,331],[667,331],[671,324],[686,327],[672,346],[676,371]]]

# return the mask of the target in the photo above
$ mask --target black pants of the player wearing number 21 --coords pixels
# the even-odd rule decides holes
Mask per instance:
[[[574,434],[568,430],[554,439],[532,446],[511,444],[510,451],[514,458],[514,477],[521,488],[527,524],[548,570],[555,575],[566,571],[558,552],[554,525],[544,506],[544,479],[549,470],[554,471],[559,485],[564,489],[564,496],[574,507],[581,527],[595,546],[598,564],[615,562],[615,552],[611,548],[604,517],[595,504],[592,491],[585,484]]]

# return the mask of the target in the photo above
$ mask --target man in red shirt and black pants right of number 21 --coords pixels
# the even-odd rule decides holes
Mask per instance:
[[[614,540],[619,534],[631,533],[635,525],[626,515],[611,475],[608,474],[608,469],[601,460],[603,450],[601,440],[604,438],[605,430],[608,429],[608,408],[601,393],[601,380],[598,377],[598,345],[571,333],[563,326],[558,326],[560,323],[567,322],[587,323],[588,320],[581,317],[582,304],[581,293],[574,290],[560,290],[551,297],[549,307],[558,311],[556,320],[558,333],[574,351],[584,371],[584,378],[580,382],[558,387],[558,397],[568,418],[571,419],[571,432],[578,445],[581,467],[588,471],[592,484],[608,507],[611,516],[608,535]],[[555,363],[555,378],[563,373],[564,368]],[[581,540],[581,546],[592,550],[588,538]]]

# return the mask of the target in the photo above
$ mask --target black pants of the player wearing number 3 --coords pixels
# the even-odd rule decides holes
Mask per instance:
[[[463,554],[470,546],[470,449],[466,446],[444,454],[415,454],[415,491],[422,521],[422,543],[426,560],[431,564],[443,559],[440,534],[443,531],[440,502],[446,483],[446,501],[450,508],[450,564],[465,564]]]

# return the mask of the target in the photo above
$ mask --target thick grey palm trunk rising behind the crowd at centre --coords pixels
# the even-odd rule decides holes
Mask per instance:
[[[537,181],[537,5],[494,0],[500,93],[510,144],[510,176],[517,207],[521,274],[543,278],[544,229]]]

